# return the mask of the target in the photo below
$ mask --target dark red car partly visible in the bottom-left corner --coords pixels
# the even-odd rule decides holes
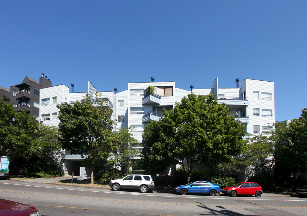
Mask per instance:
[[[0,199],[0,215],[28,216],[36,211],[37,209],[32,206],[6,199]]]

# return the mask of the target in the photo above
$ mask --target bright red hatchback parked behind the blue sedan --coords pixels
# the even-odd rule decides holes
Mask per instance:
[[[263,190],[262,187],[255,182],[240,182],[234,186],[223,188],[222,193],[229,194],[232,197],[235,197],[237,194],[261,197]]]

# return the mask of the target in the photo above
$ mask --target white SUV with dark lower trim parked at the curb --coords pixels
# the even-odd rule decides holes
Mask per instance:
[[[142,193],[147,193],[148,190],[154,189],[154,183],[150,175],[132,174],[127,175],[123,179],[115,179],[109,183],[112,190],[119,189],[136,189]]]

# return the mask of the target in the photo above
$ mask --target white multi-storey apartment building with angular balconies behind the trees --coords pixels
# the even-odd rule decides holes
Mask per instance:
[[[271,130],[268,124],[275,122],[274,117],[274,82],[244,79],[241,87],[236,80],[236,88],[220,88],[219,77],[213,82],[211,88],[184,90],[175,87],[175,82],[141,82],[128,83],[128,89],[117,92],[101,92],[101,97],[106,101],[105,106],[112,110],[111,119],[117,125],[109,126],[112,130],[117,128],[134,127],[132,132],[134,138],[142,142],[144,127],[150,121],[160,118],[162,109],[170,110],[175,102],[191,93],[209,95],[215,94],[218,102],[224,102],[230,110],[230,114],[236,114],[236,118],[244,124],[247,134],[258,134]],[[154,86],[154,94],[146,94],[147,88]],[[192,87],[192,86],[191,86]],[[95,96],[95,87],[88,81],[88,92],[69,93],[65,85],[52,86],[40,90],[40,121],[44,124],[58,126],[60,123],[57,114],[56,104],[68,102],[74,104],[81,100],[87,93]],[[247,139],[246,135],[243,139]],[[141,145],[136,146],[139,150]],[[65,152],[66,174],[72,170],[78,170],[80,166],[79,155],[70,155]],[[227,173],[226,173],[227,174]],[[233,174],[233,173],[232,173]]]

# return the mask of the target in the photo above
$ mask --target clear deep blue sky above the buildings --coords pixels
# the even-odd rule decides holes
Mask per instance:
[[[0,86],[25,76],[86,92],[274,81],[275,120],[306,107],[307,1],[0,1]]]

